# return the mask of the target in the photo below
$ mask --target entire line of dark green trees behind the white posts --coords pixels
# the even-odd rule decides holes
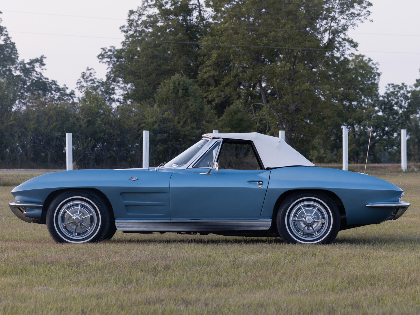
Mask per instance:
[[[366,21],[364,0],[145,1],[121,27],[120,48],[103,48],[106,78],[88,68],[79,96],[42,75],[44,57],[18,60],[0,26],[0,167],[65,165],[73,133],[80,168],[141,167],[142,130],[150,164],[179,154],[203,133],[278,136],[313,162],[420,159],[420,79],[381,95],[377,65],[348,31]]]

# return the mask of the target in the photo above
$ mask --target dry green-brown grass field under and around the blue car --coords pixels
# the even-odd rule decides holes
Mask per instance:
[[[332,245],[122,232],[58,245],[11,213],[13,187],[2,186],[0,314],[417,314],[420,173],[378,176],[412,206]]]

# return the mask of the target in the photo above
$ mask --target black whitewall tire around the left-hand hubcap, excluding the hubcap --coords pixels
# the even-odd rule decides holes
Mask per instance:
[[[98,222],[95,226],[95,231],[85,238],[77,240],[71,239],[58,227],[58,214],[60,213],[61,208],[71,200],[83,200],[84,202],[89,203],[97,215]],[[53,199],[48,207],[46,223],[48,232],[56,242],[74,244],[100,242],[105,238],[110,228],[110,215],[105,202],[96,193],[84,190],[71,190],[60,193]]]

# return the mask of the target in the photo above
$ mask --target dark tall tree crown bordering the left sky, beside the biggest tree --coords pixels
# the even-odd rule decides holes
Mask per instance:
[[[122,47],[102,48],[108,81],[123,90],[124,101],[152,99],[176,73],[197,78],[202,63],[199,40],[206,33],[199,0],[150,0],[130,10]],[[183,42],[197,44],[183,44]]]

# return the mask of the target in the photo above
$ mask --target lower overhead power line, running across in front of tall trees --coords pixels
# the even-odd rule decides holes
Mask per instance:
[[[84,37],[84,38],[100,38],[100,39],[120,39],[117,37],[101,37],[101,36],[84,36],[84,35],[67,35],[67,34],[50,34],[50,33],[34,33],[34,32],[19,32],[19,31],[9,31],[9,33],[21,33],[21,34],[37,34],[37,35],[53,35],[53,36],[70,36],[70,37]],[[280,48],[280,49],[302,49],[302,50],[323,50],[323,51],[332,51],[333,49],[324,49],[324,48],[303,48],[303,47],[279,47],[279,46],[259,46],[259,45],[241,45],[241,44],[220,44],[220,43],[202,43],[202,42],[178,42],[178,41],[167,41],[167,40],[158,40],[158,39],[134,39],[142,42],[161,42],[161,43],[174,43],[174,44],[190,44],[190,45],[213,45],[213,46],[228,46],[228,47],[253,47],[253,48]],[[383,51],[373,51],[373,50],[357,50],[354,52],[383,52]],[[383,53],[392,53],[392,54],[420,54],[420,52],[383,52]]]

